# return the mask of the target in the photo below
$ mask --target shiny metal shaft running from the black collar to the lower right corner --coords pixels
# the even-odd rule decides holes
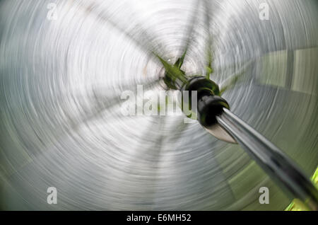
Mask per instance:
[[[216,120],[290,197],[318,210],[317,188],[278,147],[226,108]]]

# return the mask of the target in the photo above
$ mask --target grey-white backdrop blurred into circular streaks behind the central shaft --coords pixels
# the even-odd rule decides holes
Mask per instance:
[[[162,66],[194,35],[183,69],[211,79],[232,112],[293,158],[318,164],[317,1],[0,1],[0,208],[283,210],[290,200],[240,146],[183,115],[124,116],[120,94],[163,88]],[[264,3],[269,18],[261,19]],[[107,19],[105,19],[107,18]],[[210,30],[210,31],[209,31]],[[141,47],[124,35],[128,33]],[[269,204],[259,204],[259,188]],[[47,204],[47,188],[57,204]]]

